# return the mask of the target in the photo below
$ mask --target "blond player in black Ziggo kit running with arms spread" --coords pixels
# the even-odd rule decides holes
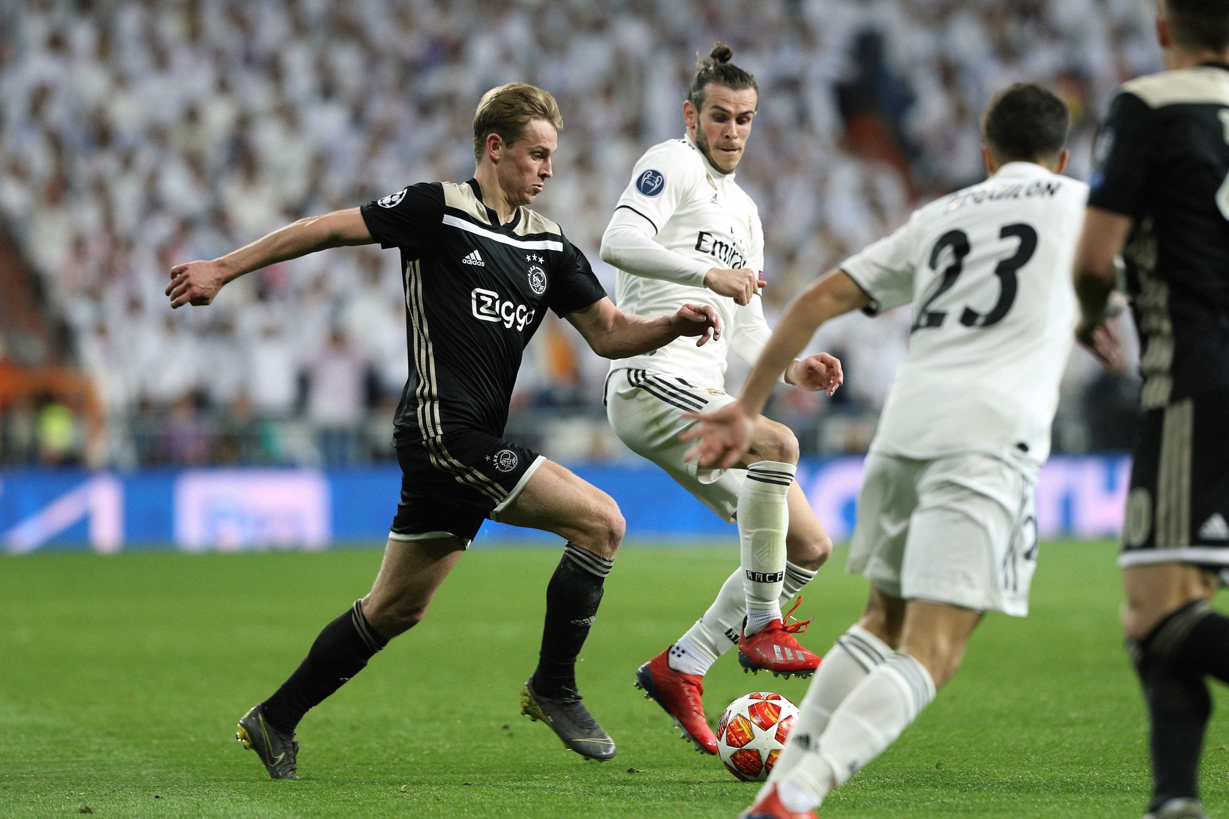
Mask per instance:
[[[643,354],[680,336],[703,344],[720,322],[712,307],[692,305],[651,320],[624,315],[559,226],[525,208],[552,175],[562,128],[546,91],[519,82],[493,89],[474,116],[477,170],[468,182],[412,184],[171,271],[172,307],[206,305],[226,282],[273,262],[343,245],[401,250],[410,364],[393,434],[401,503],[371,592],[328,623],[295,673],[238,723],[238,739],[273,778],[296,778],[299,721],[422,620],[487,518],[567,539],[521,710],[578,754],[614,756],[614,743],[581,703],[575,663],[623,518],[606,493],[505,440],[508,402],[547,310],[606,358]]]

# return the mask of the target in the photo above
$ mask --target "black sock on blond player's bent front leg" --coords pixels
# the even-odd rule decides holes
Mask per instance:
[[[602,601],[602,584],[614,561],[573,544],[546,587],[546,626],[533,671],[533,690],[547,697],[576,691],[576,657]]]

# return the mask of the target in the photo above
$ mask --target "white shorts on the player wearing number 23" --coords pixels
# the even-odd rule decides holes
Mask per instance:
[[[1023,617],[1037,566],[1032,488],[989,455],[871,453],[846,571],[896,598]]]

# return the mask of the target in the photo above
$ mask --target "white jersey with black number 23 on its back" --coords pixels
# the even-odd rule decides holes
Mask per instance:
[[[1077,321],[1072,263],[1086,198],[1083,182],[1009,162],[841,266],[873,299],[868,312],[913,303],[873,451],[1045,462]]]

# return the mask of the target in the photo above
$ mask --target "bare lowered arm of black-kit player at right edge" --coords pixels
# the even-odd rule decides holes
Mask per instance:
[[[1075,248],[1075,295],[1080,322],[1075,338],[1106,366],[1121,357],[1118,339],[1106,325],[1110,318],[1110,294],[1117,284],[1116,258],[1131,232],[1131,216],[1090,207],[1084,215],[1084,232]]]

